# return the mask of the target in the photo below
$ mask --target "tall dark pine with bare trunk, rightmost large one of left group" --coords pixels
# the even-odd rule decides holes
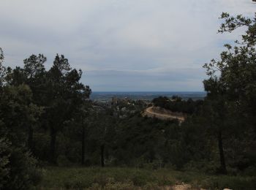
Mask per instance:
[[[65,122],[69,121],[91,89],[80,83],[82,71],[72,69],[67,58],[57,54],[53,66],[47,73],[47,114],[45,117],[50,127],[50,161],[56,161],[56,136]]]

